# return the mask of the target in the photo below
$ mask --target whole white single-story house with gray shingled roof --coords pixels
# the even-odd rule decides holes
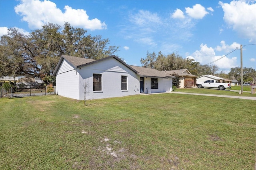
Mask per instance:
[[[115,55],[100,60],[62,55],[53,76],[56,94],[84,100],[172,91],[172,78],[151,68],[130,66]],[[87,87],[87,88],[85,88]]]

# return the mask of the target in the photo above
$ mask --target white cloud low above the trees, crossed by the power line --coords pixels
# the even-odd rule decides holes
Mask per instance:
[[[200,50],[196,50],[192,55],[187,56],[186,58],[195,59],[195,61],[200,64],[208,64],[212,61],[218,60],[223,56],[216,56],[214,49],[212,47],[207,47],[206,44],[200,45]],[[218,66],[220,69],[230,69],[236,66],[237,57],[223,57],[222,59],[212,63]]]

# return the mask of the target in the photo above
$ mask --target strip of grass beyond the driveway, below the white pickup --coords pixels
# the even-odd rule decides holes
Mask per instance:
[[[219,94],[227,96],[248,96],[256,97],[256,94],[251,94],[251,88],[243,88],[243,93],[239,94],[238,90],[241,90],[238,86],[232,86],[230,89],[219,90],[218,88],[177,88],[177,92],[188,93],[202,93],[202,94]]]

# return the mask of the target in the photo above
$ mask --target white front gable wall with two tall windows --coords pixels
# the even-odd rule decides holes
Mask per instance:
[[[83,83],[88,83],[86,100],[140,94],[140,76],[114,58],[89,64],[80,73],[79,100],[84,100]],[[102,74],[102,91],[93,91],[93,74]],[[127,76],[127,90],[121,90],[121,76]]]

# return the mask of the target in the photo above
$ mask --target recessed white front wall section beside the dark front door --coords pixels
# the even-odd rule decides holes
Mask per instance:
[[[144,93],[151,89],[151,78],[144,78]],[[158,89],[151,89],[151,93],[171,92],[172,78],[158,78]]]

